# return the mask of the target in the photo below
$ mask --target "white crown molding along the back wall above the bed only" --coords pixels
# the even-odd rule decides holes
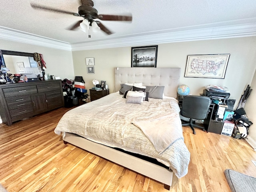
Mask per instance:
[[[202,28],[195,30],[181,30],[162,34],[150,34],[98,42],[85,42],[80,44],[71,44],[71,47],[72,51],[78,51],[247,36],[256,36],[256,23]]]

